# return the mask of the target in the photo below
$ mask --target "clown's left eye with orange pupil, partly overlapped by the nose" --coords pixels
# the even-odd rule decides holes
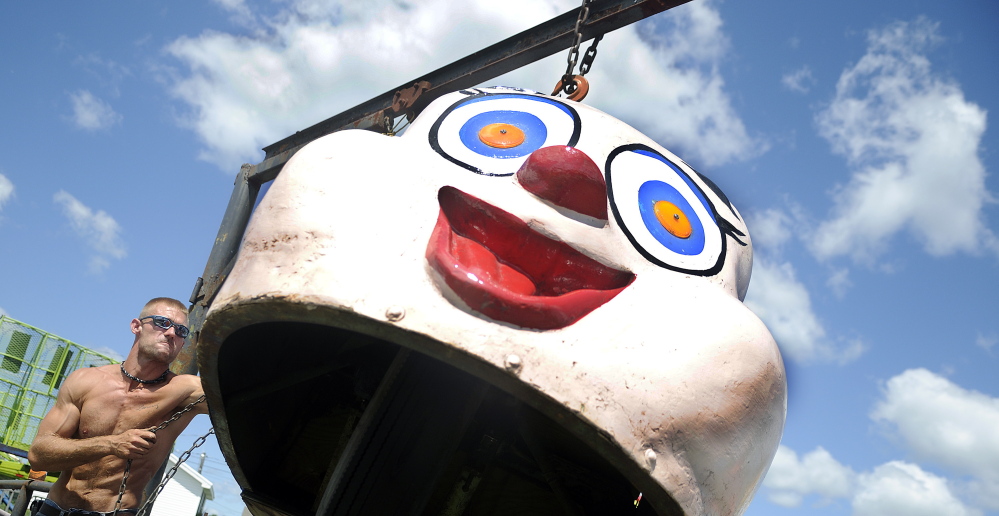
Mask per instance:
[[[515,93],[479,94],[448,108],[430,129],[441,156],[488,176],[514,174],[527,156],[551,145],[575,145],[579,116],[561,102]]]

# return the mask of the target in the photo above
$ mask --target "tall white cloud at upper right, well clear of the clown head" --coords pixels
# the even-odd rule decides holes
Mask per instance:
[[[871,263],[903,231],[933,255],[999,254],[982,215],[992,201],[979,158],[986,113],[932,71],[924,52],[939,40],[922,18],[871,31],[867,53],[818,114],[821,134],[854,170],[811,242],[819,258]]]

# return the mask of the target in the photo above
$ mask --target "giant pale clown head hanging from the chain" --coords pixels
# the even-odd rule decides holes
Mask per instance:
[[[635,129],[523,90],[453,93],[402,136],[341,131],[285,166],[202,332],[212,417],[240,484],[272,501],[252,448],[281,442],[300,469],[322,455],[308,459],[314,500],[302,506],[322,513],[338,496],[330,471],[355,449],[343,443],[359,439],[367,404],[394,374],[373,351],[383,365],[371,374],[368,359],[347,357],[408,350],[493,393],[469,405],[475,415],[452,439],[473,444],[445,446],[456,458],[428,484],[443,493],[431,505],[448,499],[447,472],[479,471],[482,485],[496,468],[530,477],[501,452],[489,467],[467,459],[481,455],[476,432],[506,443],[497,450],[537,451],[516,429],[497,430],[529,411],[551,455],[618,479],[603,484],[632,489],[622,495],[632,509],[642,493],[658,514],[738,514],[776,451],[786,404],[777,347],[741,302],[751,265],[745,223],[721,190]],[[262,354],[275,379],[253,381],[270,388],[243,379]],[[274,358],[287,354],[298,358]],[[303,396],[284,416],[297,426],[263,435],[261,406]],[[489,419],[490,404],[520,408]],[[353,423],[342,415],[351,410]],[[338,437],[289,430],[310,425]],[[557,444],[569,442],[580,444]],[[466,495],[461,514],[487,514],[477,499],[510,499],[490,489]],[[280,505],[258,514],[294,512]]]

